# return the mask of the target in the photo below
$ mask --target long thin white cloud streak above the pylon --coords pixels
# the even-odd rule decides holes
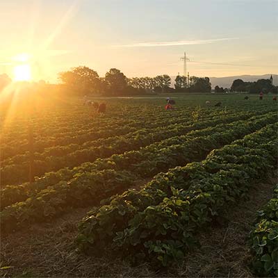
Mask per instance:
[[[210,44],[213,42],[222,42],[225,40],[236,40],[238,38],[221,38],[211,40],[177,40],[174,42],[138,42],[134,44],[113,45],[113,47],[173,47],[178,45],[190,44]]]

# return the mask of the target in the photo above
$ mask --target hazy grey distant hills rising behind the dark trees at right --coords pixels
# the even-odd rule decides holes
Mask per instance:
[[[235,79],[243,79],[243,81],[254,82],[258,79],[269,79],[271,74],[263,74],[263,75],[238,75],[238,76],[227,76],[227,77],[210,77],[211,88],[215,88],[216,85],[223,88],[230,88],[231,84]],[[176,76],[171,76],[172,82],[171,85],[174,87],[174,79]],[[278,85],[278,75],[272,74],[273,84]]]

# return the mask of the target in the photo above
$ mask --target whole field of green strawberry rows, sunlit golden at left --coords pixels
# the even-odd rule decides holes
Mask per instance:
[[[68,243],[83,258],[108,252],[132,266],[181,265],[224,211],[274,175],[277,106],[272,97],[177,95],[165,111],[165,98],[97,99],[104,114],[78,98],[3,106],[3,240],[85,209]],[[278,272],[277,202],[268,201],[246,240],[250,269],[265,276]],[[16,259],[1,262],[12,264],[5,273],[23,271]]]

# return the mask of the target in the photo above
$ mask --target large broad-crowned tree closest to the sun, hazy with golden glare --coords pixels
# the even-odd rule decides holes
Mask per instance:
[[[71,71],[60,72],[58,78],[83,95],[99,92],[99,74],[89,67],[74,67]]]

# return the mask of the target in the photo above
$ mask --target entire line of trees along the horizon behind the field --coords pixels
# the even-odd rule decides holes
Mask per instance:
[[[174,88],[171,88],[171,78],[167,74],[155,77],[127,78],[120,70],[115,68],[106,72],[104,77],[100,77],[95,70],[89,67],[74,67],[69,71],[60,72],[58,79],[67,93],[70,90],[70,92],[76,95],[118,96],[145,95],[161,92],[211,92],[211,82],[208,77],[191,76],[188,82],[186,76],[177,75],[174,79]],[[5,88],[11,81],[7,74],[0,74],[0,90]],[[38,84],[41,83],[39,82]],[[254,82],[236,79],[231,84],[230,89],[220,88],[216,85],[214,92],[272,92],[277,94],[278,86],[272,85],[272,80],[270,79],[259,79]]]

